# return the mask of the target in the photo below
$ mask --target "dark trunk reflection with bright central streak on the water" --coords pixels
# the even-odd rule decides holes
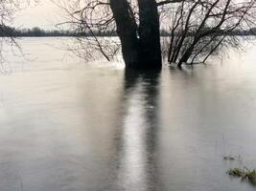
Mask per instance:
[[[117,144],[117,190],[153,190],[159,73],[125,72],[123,126]]]

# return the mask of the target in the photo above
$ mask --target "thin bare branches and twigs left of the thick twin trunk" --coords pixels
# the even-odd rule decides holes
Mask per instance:
[[[66,22],[57,26],[68,25],[78,36],[76,43],[69,47],[73,53],[91,59],[101,53],[106,60],[111,60],[119,52],[120,43],[113,38],[116,26],[106,1],[53,1],[66,15]],[[65,28],[65,27],[64,27]]]

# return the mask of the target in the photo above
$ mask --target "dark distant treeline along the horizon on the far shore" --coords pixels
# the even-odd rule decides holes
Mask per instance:
[[[117,36],[116,32],[93,32],[96,36]],[[161,36],[170,36],[171,33],[161,31]],[[193,35],[193,34],[191,34]],[[256,28],[247,31],[234,31],[230,35],[256,35]],[[9,27],[0,28],[0,36],[13,36],[13,37],[40,37],[40,36],[92,36],[90,32],[72,32],[63,30],[42,30],[38,27],[32,29],[14,29]]]

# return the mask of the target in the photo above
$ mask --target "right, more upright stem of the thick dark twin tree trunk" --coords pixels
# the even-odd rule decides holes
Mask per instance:
[[[139,65],[161,68],[159,15],[155,0],[138,0],[139,5]]]

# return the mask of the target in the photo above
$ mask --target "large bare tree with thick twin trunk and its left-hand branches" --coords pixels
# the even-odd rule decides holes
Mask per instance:
[[[127,67],[146,69],[161,67],[158,9],[171,3],[180,3],[182,0],[73,0],[68,3],[55,0],[55,2],[69,15],[69,20],[62,24],[71,25],[79,33],[87,33],[87,36],[82,36],[86,40],[86,54],[87,51],[93,50],[91,45],[103,53],[107,60],[113,57],[113,53],[118,53],[116,51],[118,46],[109,51],[105,39],[96,35],[96,32],[112,32],[119,36]],[[110,44],[116,42],[114,40]]]

